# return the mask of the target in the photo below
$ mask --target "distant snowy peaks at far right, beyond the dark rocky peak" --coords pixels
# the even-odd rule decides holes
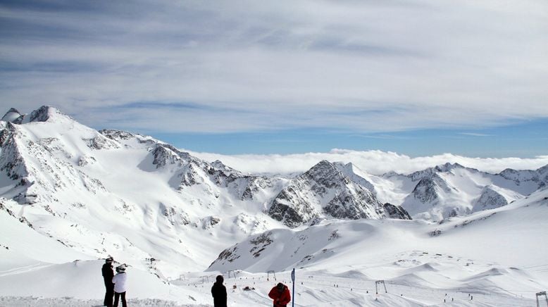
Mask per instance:
[[[546,166],[490,174],[458,163],[410,175],[389,173],[382,177],[394,184],[400,197],[404,196],[401,206],[413,218],[434,221],[504,206],[542,189],[548,182]]]

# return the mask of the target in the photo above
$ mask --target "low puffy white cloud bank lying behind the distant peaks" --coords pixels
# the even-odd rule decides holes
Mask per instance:
[[[225,165],[244,173],[292,174],[309,170],[316,163],[352,163],[359,169],[373,175],[391,171],[410,174],[417,170],[432,168],[445,163],[459,163],[467,168],[476,168],[487,173],[500,173],[506,168],[514,170],[536,170],[548,165],[548,156],[535,158],[471,158],[444,153],[436,156],[410,157],[386,151],[351,151],[332,149],[327,153],[296,153],[288,155],[222,155],[218,153],[198,153],[192,155],[206,161],[222,161]]]

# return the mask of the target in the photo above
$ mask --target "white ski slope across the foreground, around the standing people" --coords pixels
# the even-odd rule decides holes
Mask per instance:
[[[241,262],[238,258],[230,265],[213,264],[206,272],[179,271],[168,277],[155,273],[174,271],[169,263],[128,263],[127,296],[135,299],[132,306],[151,306],[151,300],[166,306],[211,306],[209,289],[214,277],[224,273],[229,306],[269,306],[270,288],[280,281],[291,287],[289,272],[297,268],[295,306],[533,306],[535,293],[548,288],[543,266],[548,250],[537,238],[548,233],[547,207],[548,190],[543,190],[442,224],[353,220],[271,230],[273,242],[254,261],[242,253]],[[27,235],[22,223],[0,227],[2,233]],[[334,230],[336,238],[329,239]],[[299,241],[301,246],[292,245],[293,237],[303,235],[308,238]],[[14,236],[8,236],[9,250],[0,249],[0,296],[6,306],[45,306],[48,299],[51,306],[99,306],[101,260],[67,261],[82,255],[63,251],[55,241],[35,242],[40,253],[18,253],[28,244]],[[242,250],[249,253],[249,247]],[[316,253],[301,261],[295,247]],[[275,270],[275,279],[270,274],[267,280],[267,270]],[[385,281],[387,293],[384,288],[375,292],[376,280]],[[255,289],[244,291],[246,286]]]

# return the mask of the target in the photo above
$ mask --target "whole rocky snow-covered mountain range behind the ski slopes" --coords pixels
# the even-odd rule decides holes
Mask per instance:
[[[267,177],[141,134],[96,131],[50,106],[30,114],[12,108],[0,121],[0,208],[98,257],[131,248],[136,258],[176,254],[204,265],[208,253],[191,245],[208,241],[191,237],[210,234],[220,250],[250,234],[322,220],[441,221],[506,206],[547,183],[548,165],[490,174],[447,163],[376,176],[319,161],[294,177]],[[158,251],[143,237],[169,247]]]

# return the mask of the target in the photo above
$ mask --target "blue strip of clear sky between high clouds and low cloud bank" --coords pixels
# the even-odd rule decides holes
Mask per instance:
[[[394,151],[409,156],[454,153],[469,157],[503,158],[546,155],[547,128],[548,120],[535,120],[481,130],[432,129],[370,134],[332,130],[287,130],[229,134],[160,133],[156,137],[192,151],[225,154],[288,154],[351,149]]]

